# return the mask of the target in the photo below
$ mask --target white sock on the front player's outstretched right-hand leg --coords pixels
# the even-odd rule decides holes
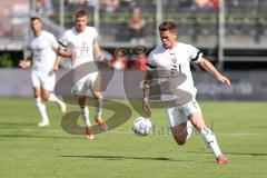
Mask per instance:
[[[217,139],[211,130],[209,130],[208,128],[204,128],[200,130],[200,136],[202,137],[207,146],[214,151],[216,158],[222,155],[218,146]]]

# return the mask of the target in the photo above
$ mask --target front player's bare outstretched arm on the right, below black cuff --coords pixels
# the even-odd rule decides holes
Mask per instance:
[[[202,60],[199,62],[199,66],[201,66],[206,71],[215,76],[220,82],[226,83],[230,87],[230,80],[222,76],[212,63],[210,63],[207,59],[202,58]]]

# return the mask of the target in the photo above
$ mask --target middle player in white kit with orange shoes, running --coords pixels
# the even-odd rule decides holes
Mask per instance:
[[[72,69],[87,62],[91,62],[90,65],[92,65],[93,52],[100,61],[103,60],[103,55],[97,41],[97,29],[88,27],[88,13],[85,10],[79,10],[75,16],[75,27],[67,30],[59,40],[60,48],[58,53],[65,58],[70,58]],[[87,107],[87,91],[89,89],[97,101],[95,120],[102,130],[108,129],[108,126],[101,118],[102,95],[100,92],[100,81],[97,80],[97,76],[98,72],[91,72],[72,83],[71,88],[72,93],[78,98],[81,116],[86,122],[86,137],[89,140],[93,139],[89,110]]]

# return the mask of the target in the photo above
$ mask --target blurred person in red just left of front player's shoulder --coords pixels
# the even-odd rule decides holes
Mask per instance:
[[[147,48],[144,46],[137,46],[134,49],[134,65],[132,68],[136,70],[147,70],[146,63],[148,61]]]

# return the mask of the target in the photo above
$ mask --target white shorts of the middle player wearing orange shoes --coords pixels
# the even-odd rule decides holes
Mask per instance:
[[[89,96],[90,89],[97,81],[98,72],[93,72],[82,77],[80,80],[75,82],[71,87],[71,92],[75,96]]]

